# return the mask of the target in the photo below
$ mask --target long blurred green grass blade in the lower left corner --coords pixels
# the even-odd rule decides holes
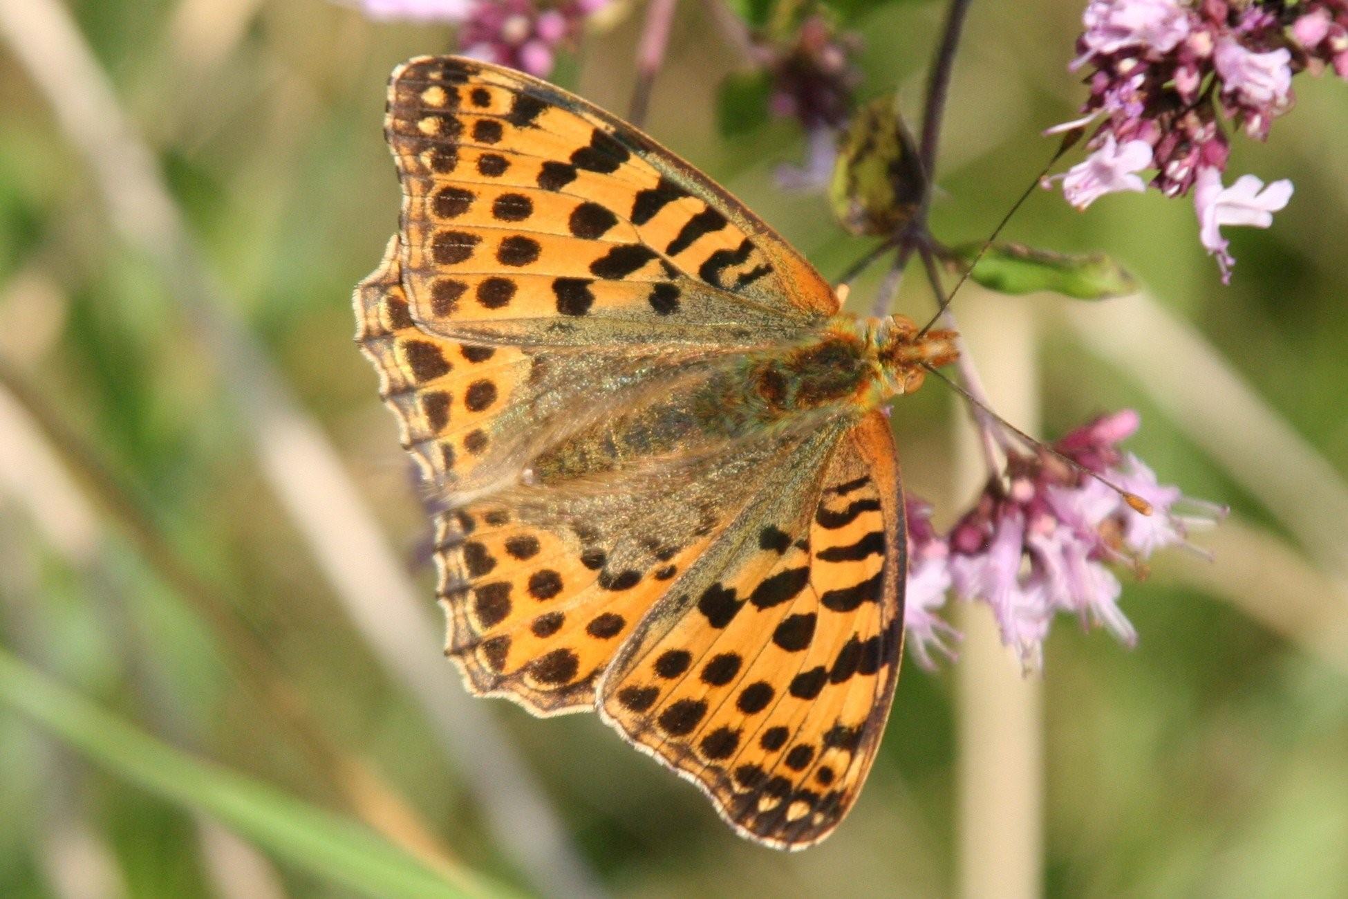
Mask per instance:
[[[445,876],[363,825],[194,759],[98,709],[0,648],[0,705],[27,714],[113,774],[198,809],[310,873],[372,896],[507,895],[464,871]]]

